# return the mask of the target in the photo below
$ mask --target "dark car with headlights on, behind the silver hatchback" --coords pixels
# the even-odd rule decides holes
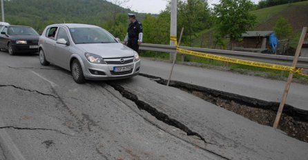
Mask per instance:
[[[8,50],[10,55],[16,53],[38,52],[39,34],[29,26],[2,26],[0,48]]]

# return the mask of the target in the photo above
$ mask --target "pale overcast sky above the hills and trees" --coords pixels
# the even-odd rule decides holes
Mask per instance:
[[[108,0],[113,1],[113,0]],[[136,12],[159,14],[161,10],[166,8],[168,0],[130,0],[126,3],[124,8],[131,8]],[[218,3],[219,0],[208,0],[209,4]],[[258,3],[260,0],[252,0],[254,3]]]

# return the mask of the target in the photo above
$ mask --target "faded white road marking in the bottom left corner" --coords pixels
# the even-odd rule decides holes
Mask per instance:
[[[4,126],[2,119],[0,118],[0,126]],[[20,150],[17,148],[15,143],[12,141],[11,137],[6,132],[6,129],[0,130],[0,142],[3,143],[5,149],[10,152],[10,156],[14,157],[15,160],[26,160],[21,154]]]

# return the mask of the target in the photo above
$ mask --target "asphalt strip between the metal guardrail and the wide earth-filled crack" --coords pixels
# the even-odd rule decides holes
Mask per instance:
[[[141,72],[168,79],[171,63],[142,59]],[[240,94],[264,101],[280,102],[287,81],[277,81],[253,77],[234,72],[211,70],[194,66],[176,64],[173,80],[192,83],[224,92]],[[287,104],[308,110],[308,85],[292,83],[287,97]]]

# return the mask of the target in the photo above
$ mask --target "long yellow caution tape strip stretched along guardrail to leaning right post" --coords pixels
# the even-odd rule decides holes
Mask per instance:
[[[204,57],[207,59],[215,59],[218,61],[225,61],[225,62],[230,62],[230,63],[238,63],[246,66],[255,66],[255,67],[260,67],[260,68],[269,68],[273,70],[286,70],[289,72],[294,72],[297,74],[305,75],[308,76],[304,73],[302,73],[303,68],[294,68],[290,66],[282,66],[282,65],[276,65],[276,64],[271,64],[271,63],[262,63],[262,62],[257,62],[257,61],[247,61],[243,59],[234,59],[231,57],[222,57],[214,54],[208,54],[208,53],[203,53],[203,52],[195,52],[191,50],[184,50],[181,48],[177,48],[177,52],[181,52],[184,54],[190,54],[193,56],[198,56],[198,57]]]

